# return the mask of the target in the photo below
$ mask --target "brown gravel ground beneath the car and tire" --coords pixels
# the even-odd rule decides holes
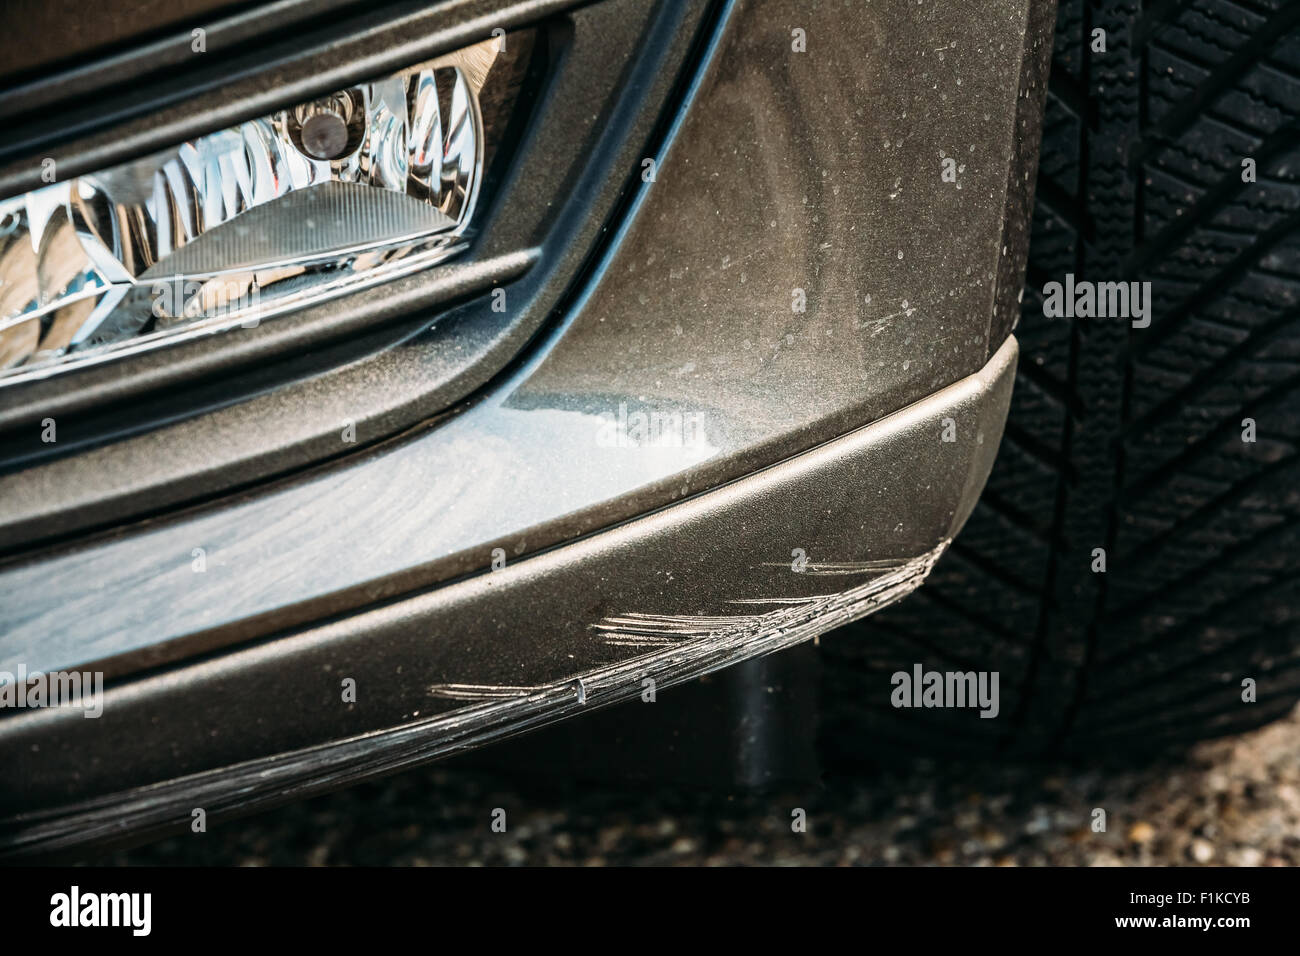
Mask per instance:
[[[494,808],[506,832],[493,832]],[[792,831],[792,810],[807,814]],[[1091,829],[1095,808],[1105,832]],[[627,792],[430,767],[87,862],[200,865],[1265,865],[1300,862],[1300,711],[1134,769],[827,777],[766,796]]]

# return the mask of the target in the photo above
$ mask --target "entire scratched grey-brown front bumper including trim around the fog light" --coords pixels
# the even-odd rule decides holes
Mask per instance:
[[[105,680],[96,719],[0,713],[0,855],[292,800],[779,650],[920,585],[971,510],[1015,362],[1043,5],[508,5],[549,92],[462,272],[0,410],[61,410],[57,445],[0,442],[0,672]],[[430,8],[416,46],[495,7]],[[396,59],[412,30],[386,30]],[[360,79],[365,38],[328,60]],[[191,90],[194,122],[255,79]],[[133,124],[104,135],[168,134]],[[0,194],[34,168],[0,166]],[[191,367],[205,388],[173,388]]]

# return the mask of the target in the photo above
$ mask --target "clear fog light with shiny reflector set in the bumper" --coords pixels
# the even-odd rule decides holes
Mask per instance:
[[[0,200],[0,385],[251,326],[454,255],[500,44]]]

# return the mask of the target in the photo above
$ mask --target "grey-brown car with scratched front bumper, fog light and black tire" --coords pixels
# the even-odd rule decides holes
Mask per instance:
[[[29,7],[0,856],[1294,706],[1296,5]]]

